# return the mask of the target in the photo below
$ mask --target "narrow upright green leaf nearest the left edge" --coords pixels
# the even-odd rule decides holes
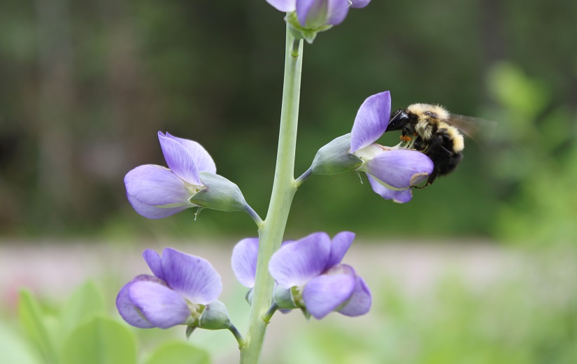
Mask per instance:
[[[41,307],[29,291],[20,291],[18,319],[22,330],[38,349],[43,361],[56,364],[58,361],[54,342],[48,335]]]

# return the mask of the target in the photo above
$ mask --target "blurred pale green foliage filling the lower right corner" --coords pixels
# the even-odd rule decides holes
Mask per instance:
[[[387,280],[372,287],[370,318],[311,323],[285,343],[279,363],[576,363],[577,256],[557,253],[566,257],[561,269],[545,254],[488,284],[446,274],[409,292]]]

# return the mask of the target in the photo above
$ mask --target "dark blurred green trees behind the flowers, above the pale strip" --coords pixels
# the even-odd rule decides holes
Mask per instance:
[[[313,177],[289,235],[577,235],[576,1],[373,0],[304,50],[296,175],[367,96],[441,103],[499,126],[406,205],[354,173]],[[3,1],[2,235],[254,234],[241,213],[150,221],[122,178],[164,165],[157,131],[197,140],[262,217],[273,180],[285,25],[259,0]],[[396,144],[398,135],[384,143]],[[295,212],[299,213],[295,213]]]

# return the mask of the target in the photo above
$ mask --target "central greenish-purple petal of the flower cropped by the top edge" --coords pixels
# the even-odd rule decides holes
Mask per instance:
[[[297,17],[303,27],[341,24],[347,17],[348,0],[297,0]]]

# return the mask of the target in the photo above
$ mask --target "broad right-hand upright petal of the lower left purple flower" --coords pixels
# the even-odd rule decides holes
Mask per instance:
[[[166,248],[162,251],[162,270],[169,287],[191,303],[208,305],[222,292],[220,275],[198,256]]]

